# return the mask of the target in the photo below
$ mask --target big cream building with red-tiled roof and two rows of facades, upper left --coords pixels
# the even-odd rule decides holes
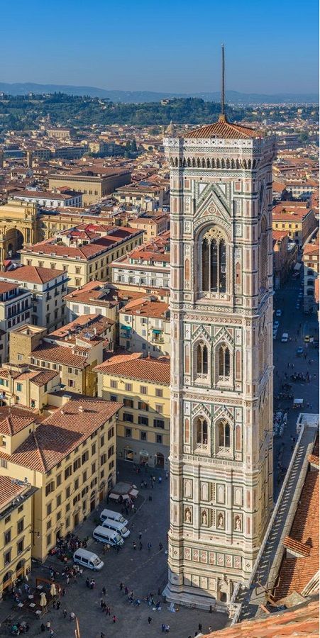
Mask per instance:
[[[111,279],[111,262],[140,246],[142,241],[141,230],[84,223],[21,250],[21,262],[26,266],[64,270],[70,289],[79,288],[88,281]]]

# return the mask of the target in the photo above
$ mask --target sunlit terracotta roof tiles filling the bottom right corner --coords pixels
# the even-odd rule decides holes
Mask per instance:
[[[220,629],[204,638],[302,638],[319,636],[319,601],[283,612],[274,612],[267,617],[239,622],[232,627]]]

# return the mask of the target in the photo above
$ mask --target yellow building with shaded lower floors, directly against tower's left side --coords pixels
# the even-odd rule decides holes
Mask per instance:
[[[95,369],[99,396],[123,404],[116,424],[118,458],[168,467],[170,359],[114,354]]]

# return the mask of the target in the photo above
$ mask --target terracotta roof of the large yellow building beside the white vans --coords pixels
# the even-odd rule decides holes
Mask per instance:
[[[122,403],[116,401],[87,396],[72,398],[40,423],[13,454],[2,453],[0,457],[35,471],[48,472],[121,407]]]

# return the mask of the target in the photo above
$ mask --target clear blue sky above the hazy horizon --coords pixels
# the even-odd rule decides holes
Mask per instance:
[[[0,81],[105,89],[273,93],[318,87],[318,2],[11,0]]]

